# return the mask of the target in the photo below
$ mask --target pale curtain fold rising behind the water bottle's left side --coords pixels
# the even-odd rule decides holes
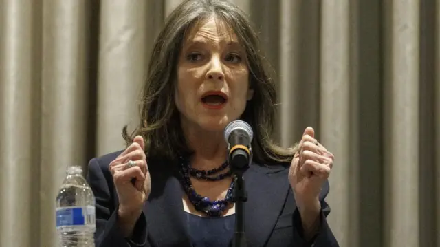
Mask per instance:
[[[41,80],[40,246],[56,246],[55,200],[67,165],[87,150],[89,3],[43,1]]]

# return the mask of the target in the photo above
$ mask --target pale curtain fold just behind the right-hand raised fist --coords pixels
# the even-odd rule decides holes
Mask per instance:
[[[322,1],[320,46],[320,122],[318,140],[336,157],[331,173],[329,204],[334,215],[352,215],[350,186],[350,5],[349,0]],[[300,83],[307,83],[301,81]],[[309,109],[310,110],[310,109]],[[342,182],[344,181],[344,182]],[[333,217],[334,230],[347,233],[349,217]],[[341,246],[353,245],[349,235],[338,239]]]

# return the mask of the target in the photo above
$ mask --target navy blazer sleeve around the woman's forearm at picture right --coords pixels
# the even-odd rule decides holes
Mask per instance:
[[[329,224],[327,223],[327,215],[330,213],[330,206],[325,202],[325,197],[329,193],[329,182],[327,181],[322,188],[320,194],[321,212],[320,212],[320,229],[311,241],[306,241],[303,235],[303,224],[301,222],[298,208],[295,209],[293,215],[294,226],[294,246],[295,247],[339,247],[336,237],[333,235]]]

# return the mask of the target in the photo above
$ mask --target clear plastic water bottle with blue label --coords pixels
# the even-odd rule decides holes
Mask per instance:
[[[56,197],[59,247],[95,247],[95,196],[83,169],[67,167],[67,177]]]

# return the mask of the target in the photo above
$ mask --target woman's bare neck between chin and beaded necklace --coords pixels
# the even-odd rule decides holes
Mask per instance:
[[[228,145],[223,131],[206,131],[188,125],[182,125],[182,129],[190,148],[195,151],[191,158],[193,168],[210,170],[225,162]]]

